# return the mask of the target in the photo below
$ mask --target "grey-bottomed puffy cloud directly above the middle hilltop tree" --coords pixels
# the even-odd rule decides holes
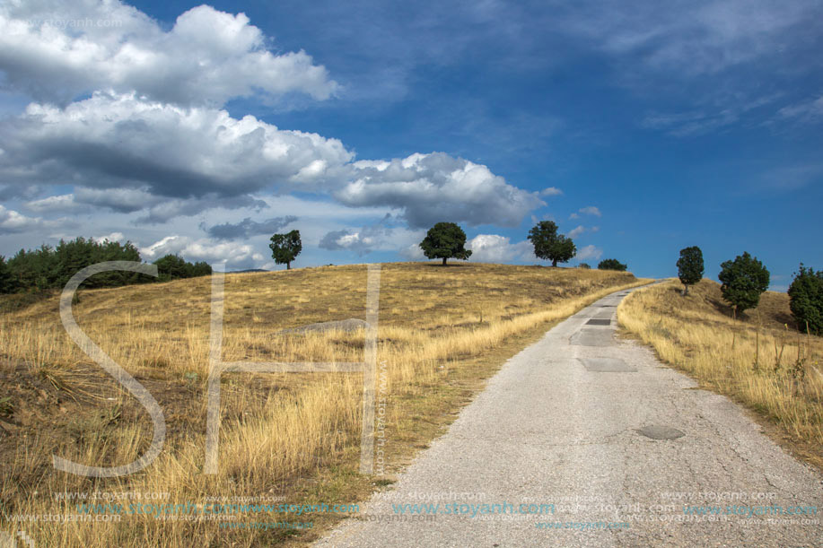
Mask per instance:
[[[435,222],[517,226],[545,205],[538,193],[506,183],[486,166],[442,152],[391,161],[356,161],[354,180],[334,196],[353,206],[386,205],[403,211],[412,228]]]

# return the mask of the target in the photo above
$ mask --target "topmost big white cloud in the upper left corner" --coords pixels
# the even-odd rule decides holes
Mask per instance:
[[[0,4],[4,83],[40,100],[136,91],[177,104],[288,93],[328,99],[337,83],[304,51],[275,55],[244,13],[200,5],[170,30],[117,0]]]

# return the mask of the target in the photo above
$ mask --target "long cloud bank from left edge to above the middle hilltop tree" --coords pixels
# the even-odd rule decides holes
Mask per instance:
[[[250,206],[262,190],[329,192],[349,206],[395,208],[413,229],[442,220],[516,226],[545,204],[486,166],[442,152],[352,162],[337,139],[135,93],[96,92],[63,109],[32,103],[0,124],[0,148],[7,183],[76,186],[73,195],[30,202],[32,210],[147,210],[142,222]]]

